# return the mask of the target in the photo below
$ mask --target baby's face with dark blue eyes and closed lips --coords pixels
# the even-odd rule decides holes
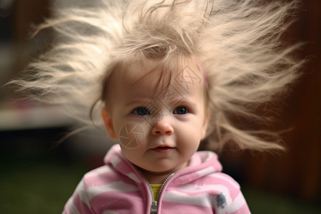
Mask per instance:
[[[205,136],[205,90],[198,66],[187,64],[160,80],[161,68],[133,64],[122,71],[103,118],[131,163],[153,173],[187,165]]]

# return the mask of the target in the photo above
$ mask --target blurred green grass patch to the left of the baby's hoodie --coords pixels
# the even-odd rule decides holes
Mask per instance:
[[[84,169],[80,165],[21,163],[1,170],[0,213],[61,213]]]

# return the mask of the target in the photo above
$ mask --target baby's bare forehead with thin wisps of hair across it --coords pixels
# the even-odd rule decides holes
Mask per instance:
[[[206,93],[202,71],[193,60],[127,63],[112,74],[108,88],[109,108],[138,100],[161,100],[162,97],[195,99],[205,97]]]

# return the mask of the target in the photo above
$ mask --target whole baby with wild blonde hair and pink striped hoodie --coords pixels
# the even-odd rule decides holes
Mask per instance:
[[[295,4],[101,0],[39,26],[63,40],[31,64],[36,76],[11,83],[81,121],[99,111],[118,141],[63,213],[250,213],[216,154],[198,148],[282,148],[235,118],[260,120],[255,108],[297,78],[295,47],[278,41]]]

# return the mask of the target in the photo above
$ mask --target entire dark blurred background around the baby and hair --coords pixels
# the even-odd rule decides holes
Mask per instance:
[[[80,0],[0,0],[0,86],[49,47],[50,32],[29,39],[31,26],[52,9]],[[303,0],[286,41],[305,42],[300,81],[284,98],[277,123],[286,153],[220,154],[225,172],[241,184],[253,213],[321,213],[321,1]],[[113,144],[103,130],[78,133],[59,106],[21,100],[0,88],[0,213],[61,213],[83,173],[103,164]]]

